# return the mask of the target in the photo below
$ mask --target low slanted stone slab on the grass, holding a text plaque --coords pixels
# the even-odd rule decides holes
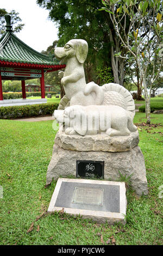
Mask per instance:
[[[82,216],[98,223],[126,223],[124,182],[59,178],[48,212],[64,208],[67,214]]]

